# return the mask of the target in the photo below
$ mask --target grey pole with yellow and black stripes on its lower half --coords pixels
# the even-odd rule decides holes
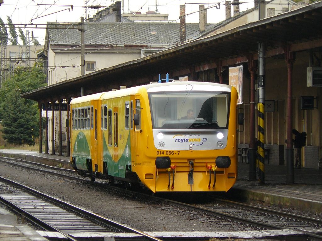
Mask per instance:
[[[265,104],[265,44],[259,44],[259,78],[258,78],[258,162],[257,173],[260,182],[265,183],[265,128],[264,128],[264,104]]]

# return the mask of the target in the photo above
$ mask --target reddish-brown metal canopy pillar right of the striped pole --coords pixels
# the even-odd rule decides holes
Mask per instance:
[[[294,55],[289,51],[289,45],[284,48],[287,63],[287,142],[286,142],[286,183],[294,183],[294,160],[293,160],[293,138],[292,138],[292,72]]]

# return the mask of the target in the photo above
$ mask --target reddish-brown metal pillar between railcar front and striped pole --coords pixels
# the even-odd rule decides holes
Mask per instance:
[[[253,61],[252,56],[248,58],[248,70],[251,73],[251,109],[249,121],[249,181],[256,180],[256,153],[257,141],[255,141],[255,73],[256,62]]]

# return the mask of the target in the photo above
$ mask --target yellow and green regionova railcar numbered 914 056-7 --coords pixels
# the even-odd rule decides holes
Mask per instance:
[[[92,180],[142,183],[152,192],[228,191],[237,178],[236,104],[234,87],[206,82],[156,83],[76,98],[71,163]],[[82,108],[84,115],[90,111],[87,130]],[[88,154],[79,149],[78,142],[86,148],[82,135]]]

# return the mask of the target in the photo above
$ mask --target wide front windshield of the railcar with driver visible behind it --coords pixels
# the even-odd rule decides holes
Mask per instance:
[[[230,92],[150,93],[153,129],[228,128]]]

